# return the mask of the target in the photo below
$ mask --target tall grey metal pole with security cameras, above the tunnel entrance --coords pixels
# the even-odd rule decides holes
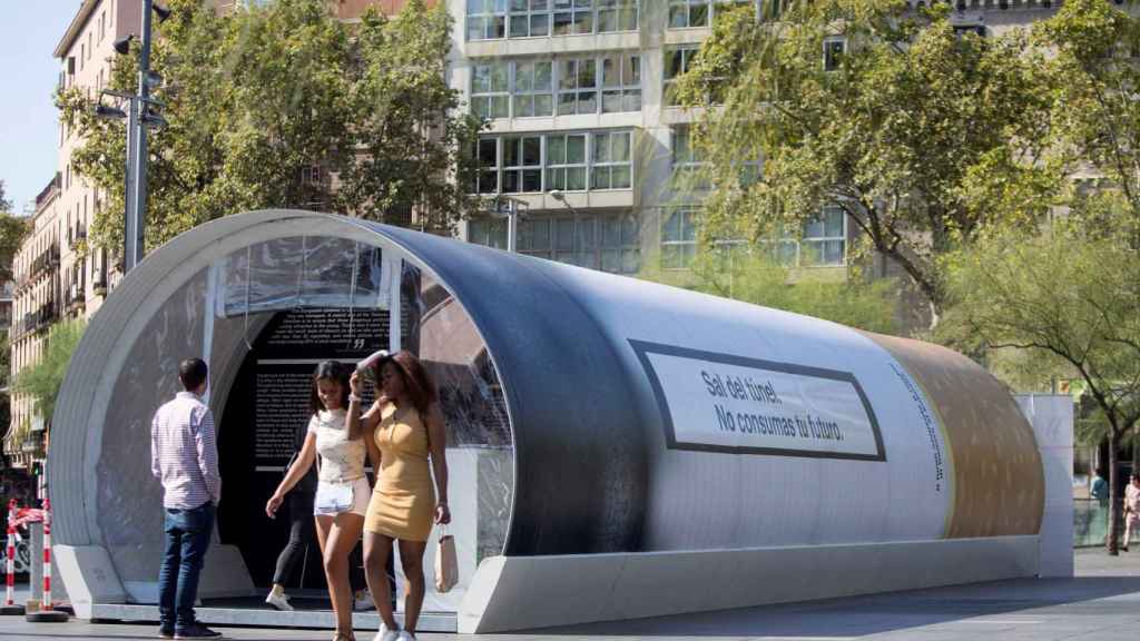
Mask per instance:
[[[113,120],[127,119],[127,193],[123,198],[127,203],[127,218],[123,225],[124,274],[142,260],[142,224],[146,220],[147,200],[147,130],[150,127],[162,128],[166,125],[166,121],[160,115],[161,108],[165,105],[150,98],[150,89],[162,84],[162,76],[150,71],[152,11],[157,14],[158,22],[163,22],[170,17],[170,9],[154,5],[153,0],[142,0],[138,94],[104,90],[99,96],[100,104],[95,109],[95,114],[99,117]],[[128,55],[131,50],[131,40],[133,39],[133,35],[124,35],[116,40],[115,51],[123,56]],[[122,103],[125,103],[127,111],[104,105],[101,102],[104,96],[120,98]]]

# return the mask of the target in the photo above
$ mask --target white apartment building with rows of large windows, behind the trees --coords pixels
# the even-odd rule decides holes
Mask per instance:
[[[684,176],[699,165],[687,145],[695,114],[675,106],[669,88],[719,11],[756,3],[448,0],[456,23],[449,83],[490,122],[473,189],[516,200],[526,212],[520,252],[621,274],[658,260],[663,269],[690,265],[699,194],[678,187],[692,186]],[[953,19],[985,34],[1053,10],[1037,0],[971,0]],[[462,234],[505,248],[506,228],[488,217]],[[842,212],[825,208],[801,241],[780,241],[779,254],[841,278],[852,234]]]

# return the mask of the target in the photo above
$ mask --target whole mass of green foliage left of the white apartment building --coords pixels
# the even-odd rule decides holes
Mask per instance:
[[[412,203],[440,227],[463,213],[466,203],[447,178],[478,125],[450,113],[457,94],[442,75],[446,11],[414,1],[391,22],[369,14],[350,25],[324,0],[278,0],[225,16],[198,0],[169,5],[173,14],[156,25],[152,50],[152,68],[164,79],[154,98],[165,103],[170,125],[148,137],[148,250],[253,209],[340,208],[383,219]],[[133,92],[136,60],[116,57],[111,89]],[[57,103],[83,139],[76,171],[108,194],[91,242],[119,253],[124,123],[96,119],[79,89]],[[430,138],[437,129],[446,135]]]

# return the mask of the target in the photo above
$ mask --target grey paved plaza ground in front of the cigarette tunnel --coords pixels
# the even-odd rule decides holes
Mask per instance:
[[[678,590],[715,589],[686,585]],[[327,641],[332,633],[312,630],[219,627],[229,639]],[[0,639],[154,639],[153,625],[30,624],[0,617]],[[768,606],[701,615],[596,624],[523,634],[474,635],[471,641],[666,641],[669,639],[765,639],[788,641],[914,640],[1081,641],[1137,639],[1140,633],[1140,549],[1109,558],[1099,550],[1076,552],[1076,577],[1019,579]],[[357,631],[361,641],[372,634]],[[453,639],[423,633],[423,641]]]

